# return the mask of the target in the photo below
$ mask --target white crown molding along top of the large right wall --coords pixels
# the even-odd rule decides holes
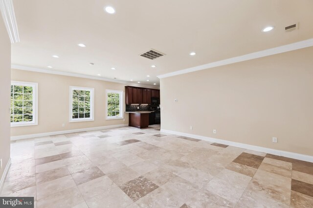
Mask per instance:
[[[170,77],[170,76],[187,74],[190,72],[196,72],[196,71],[200,71],[200,70],[204,70],[204,69],[210,69],[210,68],[214,68],[214,67],[218,67],[218,66],[224,66],[227,64],[237,63],[237,62],[251,60],[251,59],[260,58],[260,57],[267,57],[267,56],[271,56],[271,55],[275,55],[275,54],[281,54],[281,53],[285,53],[288,51],[294,51],[294,50],[298,50],[301,48],[307,48],[307,47],[311,47],[311,46],[313,46],[313,38],[299,41],[299,42],[295,42],[295,43],[291,43],[288,45],[270,48],[270,49],[263,50],[263,51],[254,52],[251,54],[246,54],[246,55],[239,56],[239,57],[227,58],[224,60],[215,61],[215,62],[203,64],[200,66],[195,66],[195,67],[179,70],[176,72],[167,73],[164,75],[159,75],[157,77],[161,79],[161,78]]]

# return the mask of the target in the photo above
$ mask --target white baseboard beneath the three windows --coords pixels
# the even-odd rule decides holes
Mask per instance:
[[[99,127],[85,128],[85,129],[73,129],[73,130],[65,130],[65,131],[59,131],[59,132],[45,132],[45,133],[26,134],[26,135],[20,135],[20,136],[11,136],[11,141],[16,141],[16,140],[20,140],[20,139],[30,139],[30,138],[36,138],[36,137],[42,137],[42,136],[52,136],[52,135],[65,134],[65,133],[97,131],[97,130],[102,130],[102,129],[112,129],[112,128],[124,127],[124,126],[128,126],[128,124],[99,126]]]

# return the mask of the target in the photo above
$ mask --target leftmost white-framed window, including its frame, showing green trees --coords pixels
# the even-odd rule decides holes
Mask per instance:
[[[11,127],[38,125],[38,83],[11,81]]]

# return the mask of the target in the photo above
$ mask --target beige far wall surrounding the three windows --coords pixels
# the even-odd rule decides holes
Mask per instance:
[[[124,113],[125,121],[106,120],[105,117],[106,89],[125,91],[125,84],[17,69],[12,69],[11,73],[14,81],[38,83],[38,125],[12,127],[12,137],[128,124],[128,113]],[[94,121],[69,122],[69,86],[94,88]],[[123,104],[125,112],[125,100]],[[65,124],[65,127],[62,124]]]

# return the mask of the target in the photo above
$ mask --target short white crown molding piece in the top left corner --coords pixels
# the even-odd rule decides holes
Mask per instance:
[[[20,42],[12,0],[0,0],[0,11],[11,43]]]

